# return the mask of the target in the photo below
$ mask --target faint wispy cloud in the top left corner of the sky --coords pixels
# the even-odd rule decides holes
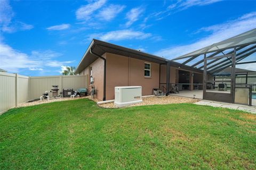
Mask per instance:
[[[13,33],[20,30],[30,30],[34,28],[34,26],[30,24],[20,21],[13,21],[14,15],[15,14],[9,4],[9,1],[0,1],[0,29],[3,32]]]

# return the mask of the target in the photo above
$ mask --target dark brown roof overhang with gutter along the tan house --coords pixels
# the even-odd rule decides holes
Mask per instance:
[[[166,62],[170,62],[170,60],[167,60],[166,58],[163,58],[163,57],[159,57],[156,55],[140,52],[135,49],[107,43],[105,41],[92,39],[91,44],[87,48],[86,52],[84,53],[81,61],[77,66],[77,69],[75,71],[76,74],[82,72],[87,66],[89,66],[91,63],[93,63],[95,60],[98,59],[98,57],[90,53],[90,49],[92,50],[93,53],[96,53],[100,56],[105,53],[112,53],[112,54],[122,55],[126,57],[131,57],[131,58],[137,58],[139,60],[144,60],[144,61],[158,63],[158,64],[166,64]],[[171,62],[171,66],[178,67],[179,65],[180,64],[177,62]],[[189,66],[185,66],[183,67],[183,69],[187,69],[195,72],[202,72],[202,71],[199,71],[198,69],[194,69]]]

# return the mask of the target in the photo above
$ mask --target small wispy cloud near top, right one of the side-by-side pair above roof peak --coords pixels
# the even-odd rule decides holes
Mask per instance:
[[[110,21],[111,19],[115,18],[115,16],[122,12],[124,9],[124,5],[114,5],[111,4],[105,8],[103,8],[99,14],[98,17],[101,20],[106,20],[106,21]]]

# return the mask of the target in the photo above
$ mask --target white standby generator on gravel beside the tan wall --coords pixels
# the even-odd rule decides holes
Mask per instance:
[[[141,86],[115,87],[115,102],[117,107],[124,107],[142,101]]]

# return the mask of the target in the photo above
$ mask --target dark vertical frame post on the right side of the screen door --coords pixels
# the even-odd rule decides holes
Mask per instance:
[[[232,56],[231,67],[231,103],[235,103],[235,87],[236,87],[236,47],[234,48],[234,55]]]

